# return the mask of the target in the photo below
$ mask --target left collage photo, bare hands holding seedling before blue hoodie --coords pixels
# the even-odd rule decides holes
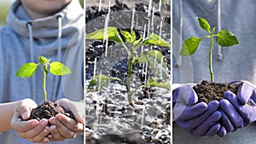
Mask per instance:
[[[0,1],[1,144],[84,144],[83,5]]]

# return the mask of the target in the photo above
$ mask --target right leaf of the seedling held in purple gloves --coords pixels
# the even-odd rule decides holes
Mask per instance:
[[[230,31],[220,31],[216,36],[217,43],[222,47],[230,47],[234,44],[239,44],[236,36]]]

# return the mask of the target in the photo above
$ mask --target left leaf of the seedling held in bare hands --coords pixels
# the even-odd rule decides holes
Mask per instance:
[[[30,62],[20,66],[19,70],[16,72],[16,76],[20,78],[32,77],[38,68],[38,64]]]

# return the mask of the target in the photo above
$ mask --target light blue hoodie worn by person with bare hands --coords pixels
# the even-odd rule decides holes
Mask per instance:
[[[36,72],[32,78],[15,76],[15,72],[24,63],[38,62],[39,55],[51,61],[63,61],[73,72],[72,75],[61,77],[65,82],[62,84],[60,77],[47,76],[48,101],[63,97],[81,101],[84,20],[84,11],[78,0],[73,0],[65,9],[52,16],[37,20],[31,20],[20,0],[16,0],[9,9],[7,26],[0,29],[0,102],[25,98],[32,98],[38,105],[44,102],[43,72]],[[83,135],[78,135],[73,140],[49,143],[81,144],[83,139]],[[32,142],[19,138],[14,130],[9,130],[0,134],[0,143]]]

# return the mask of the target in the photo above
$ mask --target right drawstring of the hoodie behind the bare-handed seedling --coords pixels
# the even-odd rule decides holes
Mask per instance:
[[[57,16],[57,20],[58,20],[58,36],[57,36],[57,41],[58,41],[58,48],[57,48],[57,61],[61,61],[61,27],[62,27],[62,17],[61,15]],[[59,91],[59,81],[60,81],[60,77],[55,77],[55,85],[54,85],[54,93],[53,95],[55,95],[55,97],[57,98],[58,95],[58,91]]]

